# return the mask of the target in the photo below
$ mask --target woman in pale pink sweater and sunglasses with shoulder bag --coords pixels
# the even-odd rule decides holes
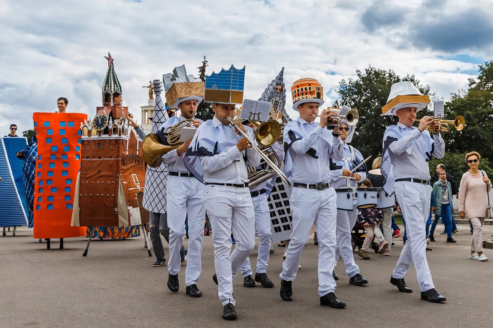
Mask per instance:
[[[488,203],[488,191],[492,184],[485,171],[478,170],[481,156],[476,151],[465,155],[465,162],[470,170],[462,175],[459,189],[459,215],[469,217],[472,223],[472,239],[470,259],[488,261],[483,254],[483,223],[485,221]]]

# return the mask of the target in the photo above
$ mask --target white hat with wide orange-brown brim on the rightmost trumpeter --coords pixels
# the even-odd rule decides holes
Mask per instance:
[[[397,82],[390,88],[387,104],[382,107],[382,115],[397,115],[397,110],[406,107],[418,111],[430,103],[430,97],[423,95],[410,81]]]

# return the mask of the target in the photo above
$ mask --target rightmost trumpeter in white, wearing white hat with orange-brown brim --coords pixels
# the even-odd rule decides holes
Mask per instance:
[[[405,98],[399,97],[406,95]],[[427,99],[423,99],[427,98]],[[429,104],[429,98],[409,81],[392,85],[387,105],[382,108],[383,115],[396,115],[397,125],[387,127],[383,140],[382,175],[386,179],[384,190],[395,196],[402,215],[406,218],[408,242],[400,254],[390,283],[400,292],[412,293],[406,286],[404,275],[411,261],[414,262],[421,299],[429,302],[442,302],[441,296],[433,285],[431,272],[426,261],[426,220],[430,211],[430,173],[428,161],[431,156],[443,158],[445,143],[440,133],[430,137],[428,125],[439,130],[440,124],[433,117],[424,116],[419,126],[412,126],[416,113]],[[394,184],[395,182],[395,184]]]

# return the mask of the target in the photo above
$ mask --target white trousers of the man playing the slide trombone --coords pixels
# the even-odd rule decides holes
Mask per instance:
[[[250,190],[206,185],[204,204],[212,226],[219,299],[222,305],[235,305],[233,279],[255,246],[255,211]],[[231,232],[236,240],[232,253]]]

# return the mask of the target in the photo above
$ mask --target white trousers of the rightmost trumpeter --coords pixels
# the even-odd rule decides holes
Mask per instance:
[[[404,278],[413,261],[421,291],[435,288],[428,261],[426,261],[426,220],[430,212],[431,186],[398,181],[395,182],[395,196],[402,209],[402,216],[406,220],[405,229],[408,240],[402,248],[392,276],[397,279]]]

